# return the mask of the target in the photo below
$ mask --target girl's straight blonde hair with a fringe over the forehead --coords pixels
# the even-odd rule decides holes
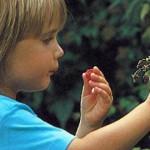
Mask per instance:
[[[0,66],[18,41],[28,34],[40,35],[55,19],[61,29],[66,20],[64,0],[0,0]]]

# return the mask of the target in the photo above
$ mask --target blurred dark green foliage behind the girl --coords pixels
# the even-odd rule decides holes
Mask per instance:
[[[45,121],[75,133],[80,118],[82,73],[97,65],[105,74],[114,103],[104,124],[119,119],[148,94],[131,75],[150,55],[150,0],[66,0],[68,20],[59,35],[65,51],[53,84],[18,97]],[[133,118],[134,119],[134,118]],[[135,150],[150,148],[145,136]]]

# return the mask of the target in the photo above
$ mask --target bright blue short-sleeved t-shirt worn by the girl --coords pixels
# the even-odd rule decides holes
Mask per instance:
[[[0,150],[67,150],[73,139],[41,120],[29,106],[0,95]]]

